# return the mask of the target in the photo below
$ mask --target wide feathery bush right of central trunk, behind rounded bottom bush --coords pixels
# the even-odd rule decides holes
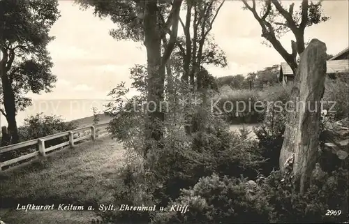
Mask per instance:
[[[188,137],[182,132],[172,133],[164,149],[155,150],[149,163],[154,176],[163,181],[158,189],[161,204],[177,198],[181,188],[194,186],[201,177],[214,172],[228,177],[256,177],[265,163],[254,140],[230,133],[224,121],[207,117],[207,126]]]

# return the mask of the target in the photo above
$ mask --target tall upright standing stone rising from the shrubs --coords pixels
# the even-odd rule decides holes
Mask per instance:
[[[297,191],[304,193],[309,187],[315,167],[320,133],[320,100],[325,90],[326,45],[313,39],[301,55],[291,100],[295,108],[289,109],[280,170],[294,175]],[[301,105],[301,107],[299,107]],[[290,158],[293,162],[289,163]],[[290,168],[292,165],[292,169]]]

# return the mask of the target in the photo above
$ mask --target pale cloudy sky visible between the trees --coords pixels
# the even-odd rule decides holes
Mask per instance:
[[[283,4],[289,3],[291,1]],[[283,61],[274,48],[262,45],[260,25],[249,10],[242,10],[242,6],[241,1],[225,1],[214,22],[211,32],[228,59],[226,68],[209,66],[209,71],[216,77],[246,75]],[[331,19],[306,28],[305,40],[318,38],[326,43],[328,54],[336,54],[349,45],[348,1],[325,0],[323,8]],[[52,73],[57,75],[56,87],[51,93],[29,94],[29,97],[46,101],[105,99],[120,82],[126,82],[129,87],[129,68],[147,62],[142,43],[114,40],[109,30],[115,24],[94,16],[91,8],[80,10],[73,1],[61,0],[59,10],[61,17],[50,31],[55,39],[48,45],[54,62]],[[281,39],[287,50],[290,50],[290,40],[291,35]],[[131,91],[132,94],[135,91]],[[20,117],[38,110],[31,108],[30,112],[21,112]],[[78,116],[77,113],[73,117]],[[3,117],[1,121],[4,121]]]

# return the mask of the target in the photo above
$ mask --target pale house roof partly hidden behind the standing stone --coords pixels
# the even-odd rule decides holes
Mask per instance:
[[[349,60],[327,61],[326,73],[349,73]],[[280,75],[293,75],[292,69],[286,62],[281,62]]]

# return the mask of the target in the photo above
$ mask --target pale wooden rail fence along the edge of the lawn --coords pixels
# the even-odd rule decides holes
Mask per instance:
[[[15,149],[22,149],[24,147],[29,147],[29,146],[33,146],[37,145],[36,147],[36,151],[31,152],[29,154],[26,154],[24,156],[20,156],[17,158],[12,158],[10,160],[6,160],[1,162],[0,165],[0,172],[3,170],[2,167],[8,166],[8,165],[12,165],[13,163],[19,163],[22,160],[27,160],[29,158],[37,158],[38,156],[46,156],[46,153],[49,151],[52,151],[54,149],[59,149],[61,147],[66,147],[66,146],[70,146],[70,147],[74,147],[74,144],[77,142],[80,142],[81,140],[96,140],[97,136],[103,135],[105,133],[107,133],[107,125],[109,123],[105,123],[105,124],[97,124],[95,126],[86,126],[86,127],[82,127],[82,128],[77,128],[74,130],[68,130],[62,133],[57,133],[54,135],[48,135],[46,137],[40,137],[37,138],[35,140],[29,140],[27,142],[20,142],[17,144],[11,144],[8,145],[6,147],[1,147],[0,148],[0,154],[3,154],[5,152],[8,151],[13,151]],[[96,130],[98,130],[98,128],[101,128],[101,130],[96,133]],[[83,135],[82,137],[80,136],[74,136],[76,133],[82,133],[82,131],[86,131],[86,130],[91,130],[91,133],[89,135]],[[60,144],[56,144],[54,146],[45,148],[45,141],[47,140],[53,140],[53,139],[57,139],[59,137],[65,137],[68,136],[69,140],[67,142],[62,142]]]

